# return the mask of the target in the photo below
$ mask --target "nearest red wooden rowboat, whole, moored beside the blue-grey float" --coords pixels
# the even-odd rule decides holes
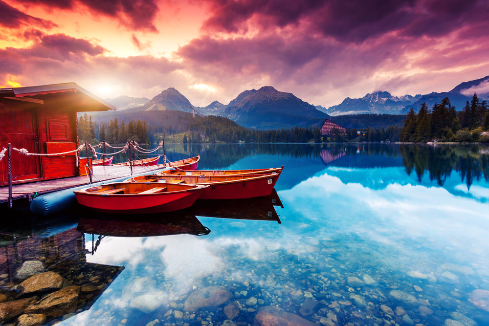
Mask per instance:
[[[172,212],[192,206],[207,185],[114,182],[75,190],[79,204],[117,214]]]

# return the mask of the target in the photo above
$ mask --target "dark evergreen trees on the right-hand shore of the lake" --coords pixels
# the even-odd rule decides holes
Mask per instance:
[[[400,134],[403,142],[488,142],[481,132],[489,129],[487,101],[480,101],[474,93],[470,102],[460,112],[450,104],[448,97],[435,103],[431,110],[425,103],[418,114],[413,109],[407,114]]]

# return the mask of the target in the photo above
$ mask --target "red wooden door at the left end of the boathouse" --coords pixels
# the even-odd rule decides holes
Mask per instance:
[[[0,146],[11,143],[17,149],[25,148],[29,153],[39,153],[36,113],[34,109],[2,107],[0,110]],[[1,185],[8,184],[8,157],[1,161]],[[12,182],[41,177],[39,156],[27,156],[12,151]]]

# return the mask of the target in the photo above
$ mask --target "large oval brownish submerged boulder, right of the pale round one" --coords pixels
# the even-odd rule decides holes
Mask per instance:
[[[185,311],[195,311],[203,307],[220,306],[232,297],[231,291],[224,286],[212,285],[190,293],[187,300],[185,300],[183,309]]]

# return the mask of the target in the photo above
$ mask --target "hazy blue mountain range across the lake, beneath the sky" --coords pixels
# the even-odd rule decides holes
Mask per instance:
[[[445,97],[457,110],[462,110],[473,94],[489,100],[489,76],[459,84],[447,92],[393,96],[387,91],[368,93],[362,98],[347,97],[338,105],[325,108],[302,101],[292,93],[276,90],[271,86],[245,90],[229,104],[214,101],[206,107],[195,107],[177,89],[170,87],[151,100],[119,96],[107,101],[118,110],[154,111],[177,110],[192,112],[192,108],[205,115],[219,115],[237,124],[254,129],[281,129],[320,126],[329,116],[345,114],[406,114],[411,108],[419,111],[422,103],[431,108]]]

